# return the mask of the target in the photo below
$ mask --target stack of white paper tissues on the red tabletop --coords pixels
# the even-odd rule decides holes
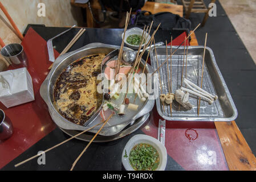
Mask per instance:
[[[6,107],[34,101],[32,78],[26,68],[0,72],[0,101]]]

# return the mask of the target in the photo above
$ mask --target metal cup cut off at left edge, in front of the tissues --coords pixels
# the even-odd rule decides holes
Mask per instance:
[[[0,109],[0,140],[5,140],[13,135],[13,125],[3,110]]]

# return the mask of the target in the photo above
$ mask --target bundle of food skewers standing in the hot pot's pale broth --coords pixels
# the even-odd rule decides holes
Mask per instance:
[[[111,107],[113,110],[116,111],[116,113],[119,116],[123,116],[125,115],[125,110],[138,110],[139,105],[136,104],[136,100],[138,100],[137,98],[139,98],[140,102],[145,102],[147,101],[149,94],[147,93],[147,89],[145,88],[144,84],[142,84],[142,79],[137,78],[136,77],[136,73],[139,73],[140,69],[140,65],[141,65],[141,59],[142,56],[144,55],[146,48],[149,46],[149,51],[147,54],[147,59],[145,61],[144,67],[143,67],[143,71],[142,71],[142,75],[144,75],[145,72],[145,68],[147,66],[147,62],[148,62],[148,57],[149,57],[149,53],[151,51],[151,46],[152,46],[152,42],[154,39],[154,36],[157,32],[157,30],[160,27],[159,26],[156,28],[155,31],[153,31],[151,38],[148,40],[149,38],[149,34],[151,32],[151,27],[153,24],[153,21],[151,22],[150,26],[144,26],[144,30],[143,30],[143,34],[141,36],[141,41],[140,41],[140,45],[139,45],[139,49],[136,53],[136,58],[133,62],[133,64],[131,65],[129,71],[127,74],[125,74],[127,79],[123,79],[122,77],[119,77],[120,74],[120,67],[123,66],[122,65],[122,57],[123,57],[123,48],[124,48],[124,40],[125,40],[125,32],[127,30],[127,26],[129,23],[129,14],[127,13],[127,19],[125,22],[125,28],[124,28],[124,34],[123,34],[123,42],[121,43],[121,47],[119,50],[119,55],[117,57],[117,60],[115,61],[115,75],[113,76],[113,78],[115,80],[111,80],[109,87],[105,90],[109,90],[109,92],[104,94],[104,98],[105,98],[105,103],[103,105],[103,111],[109,109],[109,107]],[[146,41],[148,40],[148,41]],[[144,47],[142,46],[143,43]],[[128,81],[127,81],[128,80]],[[126,92],[122,92],[124,87],[124,84],[127,84],[126,88]],[[134,92],[134,99],[133,101],[131,100],[131,98],[129,99],[127,97],[128,94],[128,90],[129,90],[129,86],[132,86],[133,92]],[[111,100],[116,100],[117,98],[120,97],[121,93],[125,93],[124,94],[124,98],[123,101],[121,101],[119,104],[114,104],[113,102],[111,102]],[[102,114],[104,117],[104,114]]]

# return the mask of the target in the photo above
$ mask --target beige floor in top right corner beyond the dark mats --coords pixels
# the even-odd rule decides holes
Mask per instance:
[[[256,1],[219,0],[238,35],[256,63]]]

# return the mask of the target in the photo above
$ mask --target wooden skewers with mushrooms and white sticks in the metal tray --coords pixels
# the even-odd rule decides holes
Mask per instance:
[[[200,24],[198,24],[199,26]],[[197,26],[197,27],[198,27]],[[197,27],[189,34],[189,36],[192,35],[192,33],[197,29]],[[157,62],[157,69],[156,71],[159,73],[159,68],[166,63],[166,71],[167,71],[167,79],[168,79],[168,93],[163,93],[162,90],[162,79],[161,75],[159,73],[159,82],[160,82],[160,102],[162,105],[162,111],[165,113],[165,104],[170,106],[170,116],[172,116],[172,103],[173,100],[175,100],[178,103],[178,110],[181,109],[181,106],[184,107],[185,110],[190,110],[193,108],[193,105],[189,102],[189,96],[192,94],[193,96],[197,96],[197,115],[200,114],[200,105],[201,105],[201,99],[207,101],[210,105],[213,104],[213,101],[218,99],[218,96],[213,95],[206,90],[202,89],[202,82],[203,82],[203,76],[204,76],[204,63],[205,63],[205,49],[206,49],[206,40],[207,40],[207,33],[205,36],[205,46],[204,46],[204,53],[203,53],[203,60],[202,60],[202,75],[201,75],[201,86],[197,86],[192,81],[189,81],[187,78],[187,62],[188,62],[188,41],[186,41],[188,37],[185,37],[184,42],[184,55],[183,55],[183,61],[182,61],[182,71],[181,71],[181,85],[180,88],[175,91],[175,93],[172,93],[172,55],[178,50],[178,48],[181,46],[178,46],[178,48],[172,52],[172,39],[171,39],[171,46],[170,46],[170,56],[168,57],[168,51],[167,51],[167,42],[166,42],[166,60],[164,63],[162,63],[159,66],[159,60],[157,59],[157,51],[155,49],[155,55],[156,55],[156,62]],[[169,68],[169,61],[170,58],[170,68]],[[184,71],[185,67],[185,71]],[[155,72],[156,72],[155,71]],[[169,77],[170,72],[170,77]],[[184,73],[185,72],[185,73]],[[183,82],[185,83],[185,87],[183,85]]]

